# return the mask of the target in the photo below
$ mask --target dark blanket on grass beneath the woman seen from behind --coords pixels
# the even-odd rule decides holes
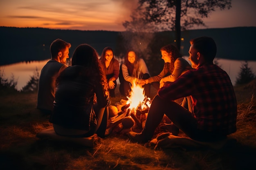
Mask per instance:
[[[79,144],[82,146],[88,146],[90,148],[93,148],[97,146],[100,138],[97,136],[97,134],[94,134],[90,137],[65,137],[61,135],[57,135],[54,131],[54,128],[48,128],[45,130],[41,130],[36,134],[36,137],[40,139],[49,139],[53,141],[59,141],[59,142],[70,142],[73,144]]]

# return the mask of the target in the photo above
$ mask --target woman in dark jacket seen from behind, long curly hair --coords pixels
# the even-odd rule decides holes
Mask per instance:
[[[56,80],[53,114],[50,121],[58,135],[105,137],[110,104],[108,83],[92,46],[81,44]]]

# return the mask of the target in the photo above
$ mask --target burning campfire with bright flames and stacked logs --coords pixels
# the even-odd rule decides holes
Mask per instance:
[[[110,124],[122,124],[122,128],[133,128],[133,131],[141,131],[146,122],[148,110],[151,105],[149,97],[145,97],[144,88],[133,82],[128,100],[121,99],[116,103],[118,114],[112,117]]]

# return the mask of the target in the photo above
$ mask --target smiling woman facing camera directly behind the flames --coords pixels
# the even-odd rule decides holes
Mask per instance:
[[[148,67],[142,58],[139,58],[134,50],[128,50],[124,64],[120,66],[119,72],[119,91],[124,96],[129,96],[132,83],[139,83],[141,79],[150,77]],[[150,84],[142,86],[145,96],[150,96]]]

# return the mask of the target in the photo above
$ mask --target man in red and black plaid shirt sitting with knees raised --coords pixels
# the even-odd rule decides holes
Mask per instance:
[[[159,89],[142,132],[129,132],[132,141],[150,140],[164,114],[173,122],[173,135],[181,129],[191,139],[216,141],[236,132],[236,95],[229,75],[213,64],[216,43],[199,37],[190,44],[189,60],[195,69]],[[182,106],[173,101],[180,97],[185,97]]]

